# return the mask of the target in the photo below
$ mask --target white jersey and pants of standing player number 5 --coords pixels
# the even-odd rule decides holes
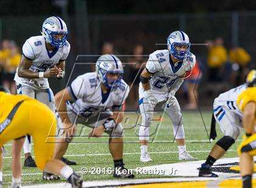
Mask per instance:
[[[69,54],[70,44],[62,48],[55,48],[52,52],[46,49],[44,36],[32,36],[23,45],[23,55],[32,60],[29,70],[33,72],[46,72],[54,67],[59,61],[64,61]],[[14,78],[17,86],[17,93],[30,96],[43,102],[55,113],[54,94],[49,87],[47,78],[21,78],[18,76],[18,68]]]

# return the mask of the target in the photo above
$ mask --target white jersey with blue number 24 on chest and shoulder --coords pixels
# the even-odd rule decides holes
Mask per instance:
[[[183,61],[175,65],[171,61],[168,50],[157,50],[149,55],[146,69],[152,73],[150,86],[153,95],[158,102],[165,100],[169,91],[174,89],[174,82],[184,73],[193,69],[196,64],[196,56],[189,53]],[[140,98],[144,97],[143,87],[140,82]]]

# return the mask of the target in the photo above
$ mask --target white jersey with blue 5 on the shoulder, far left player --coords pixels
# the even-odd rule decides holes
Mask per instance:
[[[70,44],[66,41],[62,48],[55,48],[49,52],[46,49],[44,36],[32,36],[27,39],[22,48],[23,56],[32,60],[29,70],[33,72],[46,72],[46,70],[58,64],[60,60],[65,60],[68,57],[69,50]],[[14,80],[17,84],[38,89],[47,89],[49,87],[47,78],[20,78],[18,76],[18,69]]]

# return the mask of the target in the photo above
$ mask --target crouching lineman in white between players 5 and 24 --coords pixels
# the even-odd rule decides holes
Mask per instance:
[[[123,163],[123,104],[129,86],[122,79],[123,66],[115,55],[102,55],[96,62],[96,72],[78,76],[66,89],[55,95],[57,112],[63,122],[63,134],[71,138],[77,124],[91,127],[88,136],[106,132],[109,150],[114,160],[116,178],[133,178]],[[113,110],[113,112],[112,112]],[[74,126],[73,126],[74,125]],[[61,158],[71,140],[59,138],[55,158]],[[118,171],[117,171],[118,170]],[[121,173],[118,173],[121,172]]]

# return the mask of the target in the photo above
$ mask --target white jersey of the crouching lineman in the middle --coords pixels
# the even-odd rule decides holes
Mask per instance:
[[[96,72],[85,73],[78,76],[68,87],[73,102],[68,103],[68,109],[77,115],[89,117],[112,107],[120,109],[129,94],[129,86],[121,79],[116,89],[104,94],[101,82]]]

